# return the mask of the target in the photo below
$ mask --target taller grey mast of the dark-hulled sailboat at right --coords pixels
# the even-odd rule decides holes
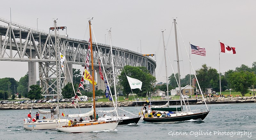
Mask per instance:
[[[178,51],[178,42],[177,42],[177,29],[176,29],[176,19],[173,19],[174,22],[174,32],[175,32],[175,44],[176,44],[176,55],[177,55],[177,65],[178,65],[178,79],[179,79],[179,90],[180,90],[180,106],[182,110],[182,97],[181,97],[181,87],[180,87],[180,60],[179,60],[179,51]]]

